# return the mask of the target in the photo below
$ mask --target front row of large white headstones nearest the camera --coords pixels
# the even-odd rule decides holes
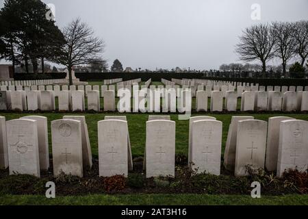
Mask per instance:
[[[47,118],[26,116],[1,122],[0,167],[10,175],[40,176],[49,168]],[[188,165],[198,173],[220,175],[222,122],[210,116],[190,118]],[[133,169],[131,144],[125,116],[105,116],[98,122],[99,176],[128,175]],[[64,116],[51,122],[53,174],[83,176],[91,168],[92,153],[84,116]],[[264,169],[308,168],[308,122],[288,117],[273,117],[269,122],[252,116],[233,116],[224,166],[245,176]],[[149,116],[146,122],[144,151],[146,177],[175,176],[175,122],[170,116]]]

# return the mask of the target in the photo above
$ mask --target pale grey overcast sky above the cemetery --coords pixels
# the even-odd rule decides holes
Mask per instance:
[[[133,69],[218,68],[238,61],[234,45],[244,27],[308,20],[308,0],[43,1],[55,5],[59,27],[79,16],[105,40],[110,65],[118,58]],[[253,3],[261,6],[260,21],[251,19]]]

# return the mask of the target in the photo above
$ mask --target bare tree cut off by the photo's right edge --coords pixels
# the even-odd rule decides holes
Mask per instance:
[[[298,21],[294,23],[293,36],[296,40],[295,52],[302,59],[301,66],[304,67],[305,60],[308,57],[308,21]]]

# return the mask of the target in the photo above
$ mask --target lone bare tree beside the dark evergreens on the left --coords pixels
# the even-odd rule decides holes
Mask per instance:
[[[93,29],[86,23],[81,23],[80,18],[65,27],[63,34],[66,44],[57,62],[68,68],[69,83],[73,85],[73,66],[88,64],[89,60],[99,58],[104,51],[105,44],[103,40],[94,37]]]

